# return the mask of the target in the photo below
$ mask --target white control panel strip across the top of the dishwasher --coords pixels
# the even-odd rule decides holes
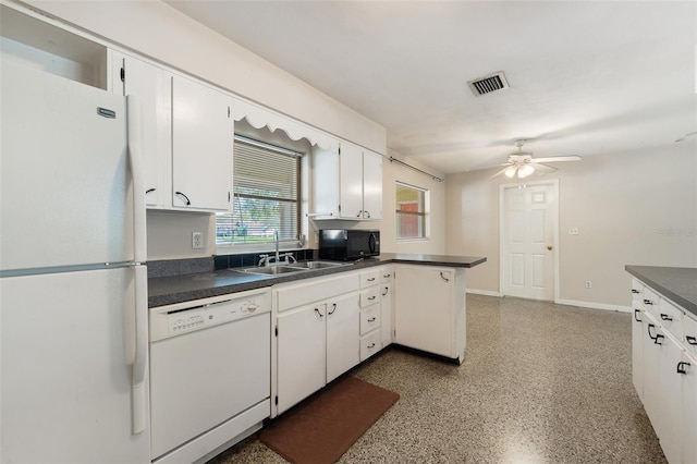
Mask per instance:
[[[150,309],[150,342],[232,322],[271,310],[271,290],[178,303]],[[269,329],[270,330],[270,329]]]

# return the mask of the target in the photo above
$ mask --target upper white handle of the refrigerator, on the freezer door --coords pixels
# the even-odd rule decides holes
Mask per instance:
[[[127,133],[129,133],[129,163],[133,176],[133,260],[147,260],[145,235],[145,171],[143,167],[143,119],[140,102],[133,96],[126,97]]]

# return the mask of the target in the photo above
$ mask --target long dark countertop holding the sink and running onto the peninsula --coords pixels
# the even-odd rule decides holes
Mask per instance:
[[[391,262],[417,264],[426,266],[448,266],[472,268],[485,262],[487,258],[478,256],[447,255],[407,255],[382,253],[379,257],[366,258],[359,262],[347,264],[329,269],[291,273],[288,276],[260,276],[241,270],[221,269],[209,272],[187,273],[183,276],[155,277],[148,279],[148,306],[158,307],[219,296],[228,293],[271,286],[282,282],[293,282],[308,278],[329,276],[338,272],[364,269]]]

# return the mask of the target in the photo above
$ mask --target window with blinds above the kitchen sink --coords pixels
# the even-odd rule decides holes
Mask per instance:
[[[302,154],[235,135],[233,212],[216,215],[216,244],[296,241]]]

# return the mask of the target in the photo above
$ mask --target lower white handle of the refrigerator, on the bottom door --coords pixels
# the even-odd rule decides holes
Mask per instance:
[[[133,358],[133,373],[131,380],[131,410],[132,432],[143,432],[147,425],[147,389],[145,374],[148,355],[148,298],[147,298],[147,268],[134,266],[135,272],[135,330],[129,334],[135,342],[135,356]]]

